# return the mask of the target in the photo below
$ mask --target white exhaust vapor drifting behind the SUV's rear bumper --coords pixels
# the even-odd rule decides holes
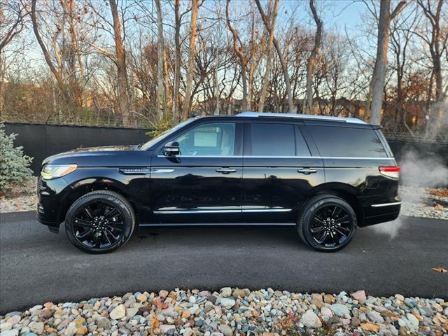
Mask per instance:
[[[448,186],[448,167],[444,165],[443,158],[438,156],[423,158],[416,151],[410,150],[402,156],[399,164],[401,167],[401,186],[424,188],[446,188]],[[421,189],[415,188],[415,190],[416,193],[400,193],[403,202],[402,209],[403,207],[409,208],[410,205],[412,211],[412,207],[422,202],[425,195],[419,193]],[[380,235],[388,236],[389,239],[393,239],[400,230],[405,229],[403,225],[405,225],[405,221],[403,221],[403,217],[400,215],[395,221],[372,226],[372,230]]]

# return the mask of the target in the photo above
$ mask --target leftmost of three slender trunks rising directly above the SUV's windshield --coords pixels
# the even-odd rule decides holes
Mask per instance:
[[[157,8],[157,100],[158,100],[158,120],[162,120],[164,111],[164,78],[163,72],[165,67],[165,41],[163,39],[163,18],[162,18],[162,5],[160,0],[155,0],[155,7]]]

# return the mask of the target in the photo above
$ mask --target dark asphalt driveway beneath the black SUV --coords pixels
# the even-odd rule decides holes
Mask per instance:
[[[391,224],[381,224],[387,228]],[[89,255],[34,213],[0,214],[0,313],[129,291],[223,286],[448,298],[448,221],[404,218],[391,238],[358,230],[337,253],[307,248],[294,227],[144,228]]]

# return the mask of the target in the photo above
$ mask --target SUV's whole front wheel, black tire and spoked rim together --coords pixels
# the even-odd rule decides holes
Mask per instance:
[[[67,211],[65,232],[71,244],[93,254],[125,245],[135,227],[135,214],[125,197],[95,190],[78,198]]]

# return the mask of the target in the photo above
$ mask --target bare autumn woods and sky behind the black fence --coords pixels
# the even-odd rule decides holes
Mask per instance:
[[[329,1],[0,0],[1,119],[314,113],[447,142],[448,1],[360,2],[349,34]]]

